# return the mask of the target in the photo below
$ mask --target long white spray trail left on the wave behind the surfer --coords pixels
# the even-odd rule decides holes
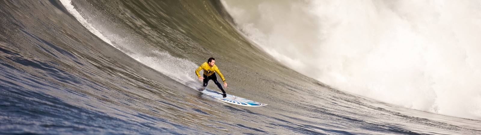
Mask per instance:
[[[163,74],[166,74],[180,83],[192,83],[196,81],[195,79],[197,78],[197,76],[195,76],[194,70],[197,68],[197,64],[185,59],[176,58],[166,51],[145,48],[153,47],[155,45],[139,46],[137,44],[142,43],[141,39],[136,38],[133,35],[125,37],[119,34],[115,34],[115,32],[111,32],[108,28],[102,27],[102,25],[92,25],[96,24],[96,21],[98,20],[85,19],[74,8],[71,0],[60,1],[62,2],[63,6],[68,10],[68,12],[70,12],[90,32],[101,38],[106,43],[114,46],[116,49],[123,51],[124,53],[126,53],[133,59],[139,61],[140,63],[143,63]],[[89,13],[87,12],[83,12],[83,14],[89,16]],[[116,31],[118,32],[119,29],[116,29]]]

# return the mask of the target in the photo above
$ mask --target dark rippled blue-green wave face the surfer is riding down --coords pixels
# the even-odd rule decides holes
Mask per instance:
[[[0,16],[0,134],[481,133],[478,120],[346,94],[283,66],[220,1],[3,0]],[[196,91],[209,57],[229,94],[269,105]]]

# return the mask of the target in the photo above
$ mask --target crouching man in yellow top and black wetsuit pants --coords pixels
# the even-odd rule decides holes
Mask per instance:
[[[226,98],[227,97],[226,91],[224,91],[220,83],[217,81],[217,76],[215,75],[215,72],[219,74],[220,78],[224,82],[224,87],[227,87],[226,79],[224,79],[224,76],[220,73],[219,68],[217,68],[217,66],[214,63],[215,63],[215,59],[209,58],[207,62],[202,63],[202,65],[195,70],[195,74],[197,74],[197,76],[199,77],[199,81],[202,81],[202,80],[204,81],[203,83],[204,88],[207,86],[207,83],[209,82],[209,80],[214,81],[215,85],[217,85],[217,87],[219,87],[219,89],[222,90],[222,96]],[[203,77],[199,74],[199,71],[201,70],[204,70]],[[203,91],[204,88],[199,89],[199,91]]]

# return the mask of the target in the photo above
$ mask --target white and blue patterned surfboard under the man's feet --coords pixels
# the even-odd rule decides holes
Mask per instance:
[[[219,99],[223,102],[229,103],[229,104],[234,104],[234,105],[240,105],[240,106],[250,106],[250,107],[258,107],[258,106],[266,106],[267,104],[259,103],[253,100],[249,100],[246,98],[241,98],[237,97],[234,95],[227,94],[226,98],[222,98],[222,93],[210,90],[210,89],[204,89],[201,91],[205,95],[209,95],[212,98]]]

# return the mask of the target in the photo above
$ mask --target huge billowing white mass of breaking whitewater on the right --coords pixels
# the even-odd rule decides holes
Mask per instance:
[[[343,91],[481,119],[480,1],[225,0],[284,65]]]

